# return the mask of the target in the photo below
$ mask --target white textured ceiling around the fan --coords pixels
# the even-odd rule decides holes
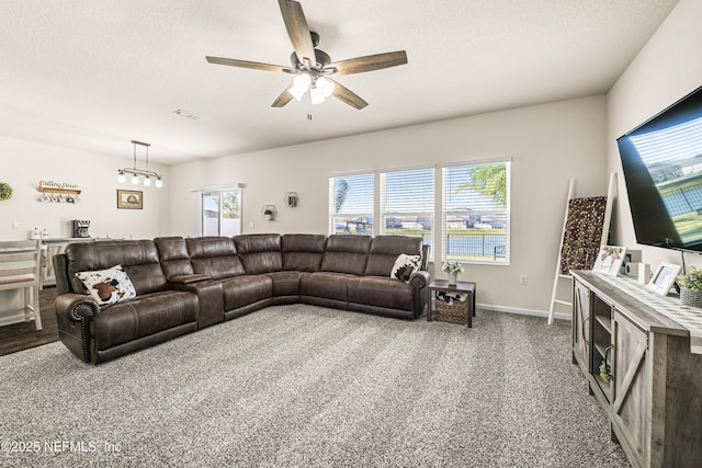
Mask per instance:
[[[302,0],[339,76],[369,102],[273,109],[291,76],[275,0],[15,0],[0,5],[0,135],[166,164],[607,92],[678,0]],[[172,113],[185,110],[202,118]],[[312,114],[309,121],[307,114]]]

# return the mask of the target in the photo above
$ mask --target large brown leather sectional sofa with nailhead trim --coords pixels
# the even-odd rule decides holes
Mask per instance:
[[[409,281],[399,254],[422,255]],[[242,235],[71,243],[54,258],[58,333],[101,363],[272,305],[312,304],[416,319],[423,312],[427,247],[403,236]],[[136,297],[100,306],[78,272],[122,265]]]

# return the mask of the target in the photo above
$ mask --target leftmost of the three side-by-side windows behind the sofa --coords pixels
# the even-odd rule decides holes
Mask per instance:
[[[329,178],[329,232],[373,235],[375,174]]]

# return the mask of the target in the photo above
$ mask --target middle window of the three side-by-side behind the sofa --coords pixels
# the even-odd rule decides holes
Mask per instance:
[[[382,172],[381,229],[384,235],[421,237],[432,244],[434,168]]]

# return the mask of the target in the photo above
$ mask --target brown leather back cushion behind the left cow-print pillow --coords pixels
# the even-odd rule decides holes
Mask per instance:
[[[168,283],[151,240],[114,240],[69,243],[66,248],[68,277],[75,292],[82,292],[78,272],[107,270],[122,265],[136,295],[166,290]]]

